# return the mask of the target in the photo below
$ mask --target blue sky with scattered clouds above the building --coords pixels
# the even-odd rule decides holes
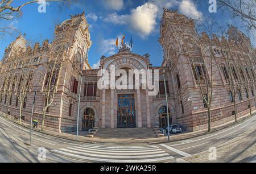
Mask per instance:
[[[28,5],[22,9],[22,16],[3,22],[1,26],[15,27],[22,34],[26,33],[28,43],[42,43],[43,40],[52,40],[55,25],[70,18],[71,14],[79,14],[85,11],[90,24],[90,35],[93,42],[89,52],[90,65],[97,64],[101,55],[110,56],[117,52],[115,39],[126,36],[126,42],[133,37],[133,52],[139,55],[148,53],[151,55],[151,63],[161,65],[163,60],[162,47],[158,42],[159,22],[162,16],[162,7],[167,9],[179,9],[189,17],[198,16],[214,18],[217,26],[226,26],[227,23],[241,26],[241,23],[232,19],[228,13],[210,14],[208,3],[195,5],[192,0],[86,0],[70,7],[59,9],[59,3],[48,3],[46,13],[38,13],[38,4]],[[24,0],[16,1],[20,4]],[[15,3],[14,3],[15,6]],[[217,28],[217,27],[216,27]],[[242,29],[242,28],[241,28]],[[0,56],[3,57],[5,48],[14,40],[6,35],[0,41]],[[255,45],[255,41],[253,40]]]

